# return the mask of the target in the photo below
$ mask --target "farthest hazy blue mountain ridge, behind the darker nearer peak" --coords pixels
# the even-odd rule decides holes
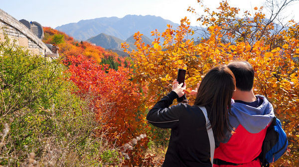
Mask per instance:
[[[153,15],[126,15],[123,18],[101,17],[81,20],[77,23],[58,26],[55,29],[63,31],[77,40],[87,40],[100,33],[126,40],[137,31],[153,39],[150,31],[157,29],[162,32],[167,24],[173,25],[174,27],[178,26],[178,24],[172,21]]]

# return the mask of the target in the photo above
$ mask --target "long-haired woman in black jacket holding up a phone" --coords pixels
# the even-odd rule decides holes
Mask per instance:
[[[147,120],[160,128],[171,128],[163,167],[212,167],[210,144],[205,116],[198,106],[207,110],[216,145],[231,132],[228,121],[231,98],[235,90],[235,77],[226,67],[211,69],[200,83],[194,105],[172,104],[180,102],[186,84],[173,82],[172,91],[158,101],[147,115]]]

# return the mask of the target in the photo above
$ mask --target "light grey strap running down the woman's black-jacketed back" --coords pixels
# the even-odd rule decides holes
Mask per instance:
[[[211,127],[210,120],[208,118],[208,113],[205,107],[199,107],[201,111],[204,114],[205,120],[206,120],[206,128],[209,136],[209,141],[210,141],[210,154],[211,154],[211,163],[213,167],[213,160],[214,160],[214,151],[215,151],[215,140],[214,140],[214,134],[213,134],[213,129]]]

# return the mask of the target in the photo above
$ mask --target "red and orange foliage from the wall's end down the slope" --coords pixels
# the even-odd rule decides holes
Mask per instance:
[[[70,81],[75,83],[78,94],[90,102],[90,108],[101,125],[98,135],[108,139],[113,147],[122,148],[126,143],[145,133],[147,128],[145,108],[140,87],[130,79],[132,69],[124,68],[125,59],[114,52],[88,42],[78,42],[63,32],[44,27],[45,43],[53,44],[55,36],[60,43],[60,56],[71,74]],[[100,65],[102,59],[113,57],[121,64],[118,70],[109,69],[109,65]],[[136,144],[133,150],[127,150],[129,158],[124,164],[139,166],[145,162],[148,138]],[[134,142],[133,142],[134,143]],[[126,156],[125,156],[126,157]]]

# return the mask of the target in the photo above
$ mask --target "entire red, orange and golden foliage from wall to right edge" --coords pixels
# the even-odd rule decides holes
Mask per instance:
[[[204,7],[204,5],[199,1]],[[188,9],[196,13],[193,8]],[[273,104],[276,116],[282,121],[289,146],[286,154],[274,166],[299,165],[299,24],[293,20],[285,27],[266,18],[263,7],[254,7],[253,13],[220,2],[217,11],[204,8],[198,21],[206,34],[202,39],[192,39],[197,33],[187,18],[177,28],[167,25],[164,32],[152,31],[151,45],[145,45],[142,34],[135,34],[136,50],[128,51],[134,64],[124,68],[124,58],[93,46],[77,42],[64,33],[50,28],[45,30],[45,42],[60,47],[63,63],[68,67],[70,80],[77,85],[74,93],[91,99],[90,107],[110,144],[122,147],[136,136],[149,136],[129,151],[132,166],[152,165],[154,154],[148,154],[148,143],[157,142],[157,134],[147,124],[145,117],[152,105],[166,95],[176,78],[177,69],[186,69],[187,95],[212,67],[233,60],[245,60],[255,70],[254,92],[265,95]],[[163,40],[161,40],[163,39]],[[121,65],[118,70],[102,62],[109,56]],[[192,101],[193,97],[188,97]],[[168,136],[163,136],[167,138]],[[150,163],[149,163],[150,162]]]

